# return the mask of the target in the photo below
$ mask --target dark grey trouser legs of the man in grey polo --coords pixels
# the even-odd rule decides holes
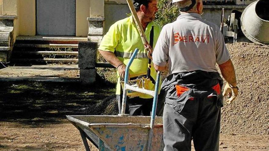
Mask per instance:
[[[193,139],[196,151],[218,151],[220,106],[216,97],[187,100],[179,113],[165,104],[164,151],[190,151]]]

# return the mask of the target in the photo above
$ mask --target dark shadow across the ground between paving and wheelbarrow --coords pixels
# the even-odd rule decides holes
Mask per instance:
[[[76,82],[1,82],[0,121],[40,127],[60,123],[65,115],[112,114],[116,109],[114,97],[115,84],[104,81],[93,86]]]

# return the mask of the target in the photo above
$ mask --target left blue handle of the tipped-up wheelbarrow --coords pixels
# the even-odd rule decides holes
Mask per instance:
[[[134,53],[132,54],[126,68],[125,68],[125,75],[124,75],[124,87],[123,87],[123,97],[122,97],[122,106],[121,106],[121,114],[125,114],[125,108],[126,108],[126,99],[127,99],[127,90],[125,89],[125,84],[128,83],[129,79],[129,69],[131,64],[133,63],[135,56],[137,54],[139,49],[135,49]]]

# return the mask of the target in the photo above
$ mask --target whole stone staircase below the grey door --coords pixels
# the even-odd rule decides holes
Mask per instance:
[[[87,38],[19,36],[13,48],[11,63],[15,65],[77,64],[79,41],[87,41]]]

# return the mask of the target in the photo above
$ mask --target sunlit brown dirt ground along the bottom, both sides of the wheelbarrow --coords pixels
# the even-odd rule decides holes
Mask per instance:
[[[59,124],[21,125],[1,122],[1,151],[83,151],[79,131],[66,120]],[[221,135],[220,151],[267,151],[268,136]],[[89,143],[90,144],[90,143]],[[90,144],[91,151],[98,149]]]

